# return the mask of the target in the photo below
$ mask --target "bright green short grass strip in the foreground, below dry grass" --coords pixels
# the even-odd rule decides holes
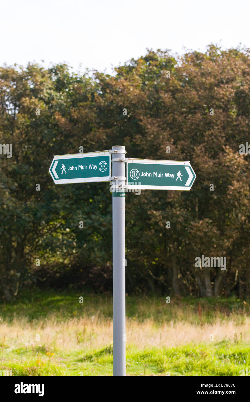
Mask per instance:
[[[228,353],[228,350],[230,352]],[[84,354],[79,361],[77,354],[71,351],[70,356],[61,352],[60,357],[48,365],[46,355],[41,357],[43,365],[37,366],[37,358],[30,357],[29,352],[25,353],[21,362],[6,361],[0,364],[1,370],[12,369],[12,375],[16,376],[40,376],[40,375],[70,375],[70,376],[112,376],[113,359],[110,347],[101,350],[92,350],[92,354]],[[24,360],[25,357],[25,360]],[[12,351],[9,359],[17,358],[19,355]],[[245,361],[245,362],[244,362]],[[227,343],[226,345],[207,346],[187,345],[174,349],[147,348],[139,351],[129,347],[126,353],[126,375],[139,376],[239,376],[240,370],[246,370],[250,365],[250,354],[248,345],[236,347]]]

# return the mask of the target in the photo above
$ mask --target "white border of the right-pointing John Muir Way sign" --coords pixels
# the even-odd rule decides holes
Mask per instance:
[[[191,190],[192,185],[194,184],[194,180],[196,179],[196,174],[194,173],[194,180],[191,186],[145,186],[145,185],[129,185],[128,184],[128,164],[132,163],[148,163],[148,164],[156,164],[159,163],[159,165],[182,165],[182,166],[189,166],[192,168],[191,164],[189,161],[183,161],[183,160],[158,160],[158,159],[136,159],[136,158],[128,158],[127,166],[126,166],[126,173],[127,173],[127,180],[126,180],[126,185],[125,189],[128,190],[179,190],[179,191],[189,191]],[[194,169],[192,168],[192,171],[194,172]]]

